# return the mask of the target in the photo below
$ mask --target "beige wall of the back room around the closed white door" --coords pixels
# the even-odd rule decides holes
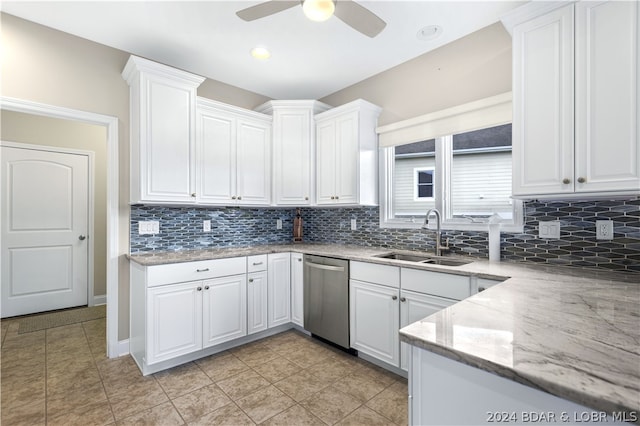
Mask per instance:
[[[5,142],[72,148],[94,153],[94,296],[107,294],[107,132],[103,126],[2,111]]]

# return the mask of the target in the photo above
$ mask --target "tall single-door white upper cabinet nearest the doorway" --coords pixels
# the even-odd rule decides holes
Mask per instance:
[[[203,77],[131,56],[131,202],[193,203],[196,89]]]

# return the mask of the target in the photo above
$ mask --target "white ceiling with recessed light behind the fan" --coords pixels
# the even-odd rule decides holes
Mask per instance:
[[[301,7],[253,22],[259,1],[2,1],[2,11],[273,99],[319,99],[497,22],[514,1],[359,1],[387,22],[375,38]],[[443,27],[420,41],[427,25]],[[267,61],[249,54],[263,45]]]

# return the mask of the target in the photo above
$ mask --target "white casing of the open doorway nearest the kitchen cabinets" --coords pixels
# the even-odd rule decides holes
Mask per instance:
[[[118,341],[118,274],[119,274],[119,174],[118,174],[118,117],[88,111],[48,105],[24,99],[0,96],[5,110],[75,120],[104,126],[107,130],[107,357],[129,353],[128,339]],[[123,256],[126,253],[123,253]]]

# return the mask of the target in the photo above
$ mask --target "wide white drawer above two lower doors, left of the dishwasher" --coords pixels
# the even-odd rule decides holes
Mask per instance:
[[[247,272],[246,259],[246,257],[231,257],[228,259],[199,260],[197,262],[149,266],[147,268],[147,286],[154,287],[245,274]]]

